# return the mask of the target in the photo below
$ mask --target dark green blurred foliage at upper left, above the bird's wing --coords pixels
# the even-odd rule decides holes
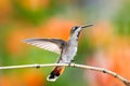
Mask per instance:
[[[64,4],[60,4],[56,0],[50,0],[47,8],[40,8],[38,10],[29,10],[23,6],[18,0],[13,2],[14,17],[24,18],[24,20],[32,23],[32,25],[38,25],[41,22],[48,20],[50,17],[54,16],[58,12],[63,11]]]

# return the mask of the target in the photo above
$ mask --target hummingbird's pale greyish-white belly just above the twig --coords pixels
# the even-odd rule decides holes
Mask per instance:
[[[69,63],[72,60],[74,60],[74,57],[77,53],[77,47],[70,46],[66,48],[66,52],[62,55],[62,61],[65,63]]]

